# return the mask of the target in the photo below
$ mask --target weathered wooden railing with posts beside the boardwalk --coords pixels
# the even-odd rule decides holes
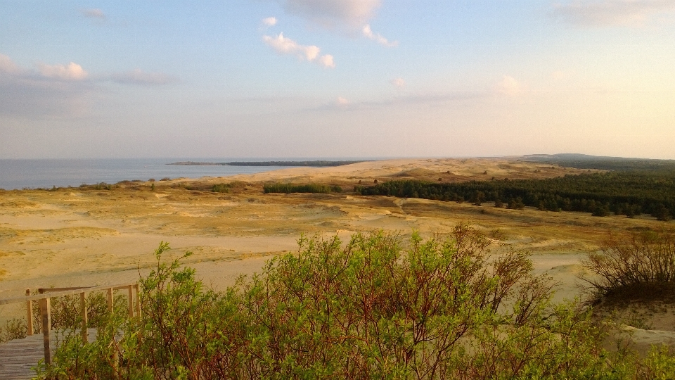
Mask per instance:
[[[127,284],[117,284],[117,285],[104,285],[104,286],[88,286],[88,287],[75,287],[75,288],[40,288],[38,289],[38,294],[31,296],[30,289],[26,289],[25,297],[17,298],[7,298],[0,300],[0,305],[6,305],[8,303],[20,303],[25,302],[27,306],[27,317],[28,317],[28,335],[34,334],[33,329],[33,305],[32,301],[40,301],[40,320],[42,322],[42,334],[44,336],[44,362],[45,364],[51,364],[51,341],[49,336],[49,331],[51,331],[51,298],[63,297],[63,296],[75,296],[79,294],[79,307],[82,315],[82,340],[84,343],[87,343],[87,308],[86,308],[86,295],[92,291],[106,291],[107,300],[108,300],[108,310],[110,313],[113,312],[113,292],[120,289],[127,289],[129,291],[129,317],[134,317],[134,311],[136,316],[141,316],[141,303],[139,302],[139,284],[137,282],[130,282]],[[136,291],[136,304],[134,307],[134,290]]]

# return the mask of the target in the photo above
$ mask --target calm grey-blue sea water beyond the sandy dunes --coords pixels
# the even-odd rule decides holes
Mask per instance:
[[[280,166],[187,166],[167,165],[177,161],[226,163],[231,158],[148,158],[101,160],[0,160],[0,189],[35,189],[79,186],[124,179],[224,177],[283,169]],[[269,160],[269,159],[265,159]],[[254,161],[254,160],[249,160]]]

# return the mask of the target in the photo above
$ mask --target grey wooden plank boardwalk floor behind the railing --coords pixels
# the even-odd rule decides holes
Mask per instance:
[[[86,332],[90,342],[96,340],[96,329],[87,329]],[[50,336],[53,352],[56,348],[56,342],[60,339],[56,336],[56,331],[53,330]],[[44,338],[42,334],[0,343],[0,379],[27,380],[34,378],[35,371],[31,368],[35,367],[40,359],[44,360]]]

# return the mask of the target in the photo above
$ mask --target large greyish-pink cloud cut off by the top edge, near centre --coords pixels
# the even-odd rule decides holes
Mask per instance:
[[[285,11],[323,27],[360,27],[380,6],[380,0],[277,0]]]

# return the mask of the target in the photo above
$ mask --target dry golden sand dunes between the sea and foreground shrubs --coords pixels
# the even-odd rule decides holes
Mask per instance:
[[[252,274],[274,255],[295,250],[300,234],[338,234],[349,239],[355,232],[384,229],[405,237],[416,229],[432,236],[447,234],[459,222],[484,231],[496,248],[513,243],[532,252],[535,271],[547,272],[560,283],[556,298],[574,298],[580,292],[577,276],[584,271],[581,258],[610,229],[657,227],[660,222],[355,196],[349,191],[375,180],[458,182],[579,172],[506,158],[401,159],[173,179],[154,182],[154,191],[150,182],[120,184],[112,190],[0,191],[0,298],[21,296],[27,288],[136,279],[139,272],[147,273],[156,264],[153,250],[160,241],[168,241],[173,248],[167,260],[193,251],[186,263],[207,284],[224,289],[239,274]],[[338,184],[344,192],[263,194],[264,182],[272,181]],[[233,188],[229,193],[210,191],[220,183],[233,183]],[[16,312],[0,307],[0,323]],[[662,332],[671,334],[673,327],[675,323],[666,331],[664,325]]]

